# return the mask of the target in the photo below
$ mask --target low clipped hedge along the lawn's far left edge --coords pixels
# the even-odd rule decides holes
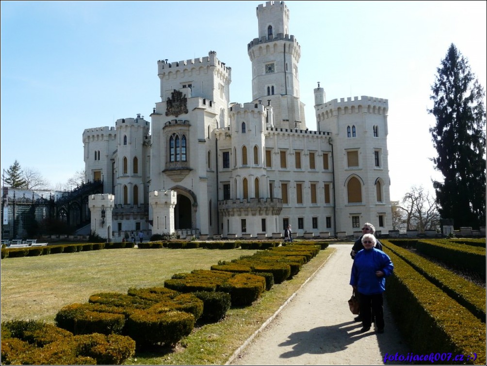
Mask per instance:
[[[102,250],[102,249],[122,249],[133,248],[132,242],[120,243],[82,243],[82,244],[59,244],[47,245],[45,247],[25,247],[25,248],[2,248],[1,259],[18,257],[35,257],[39,255],[75,253],[78,251]]]

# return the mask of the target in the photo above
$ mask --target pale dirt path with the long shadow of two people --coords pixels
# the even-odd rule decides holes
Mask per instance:
[[[359,332],[347,304],[352,245],[330,247],[337,251],[230,365],[383,365],[386,353],[408,353],[387,303],[384,334]]]

